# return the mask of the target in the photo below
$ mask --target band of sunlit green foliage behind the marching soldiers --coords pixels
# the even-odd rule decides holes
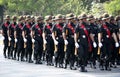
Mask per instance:
[[[101,2],[102,3],[99,3]],[[5,7],[5,14],[33,14],[56,15],[82,12],[99,14],[107,11],[110,14],[120,13],[120,0],[106,3],[106,0],[0,0],[0,5]],[[104,8],[104,6],[105,8]],[[105,9],[105,10],[104,10]]]

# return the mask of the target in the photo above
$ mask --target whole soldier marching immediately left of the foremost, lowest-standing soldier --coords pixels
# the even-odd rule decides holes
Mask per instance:
[[[70,64],[70,69],[75,70],[74,62],[75,62],[75,42],[74,42],[74,28],[75,25],[73,23],[74,14],[70,13],[67,15],[68,23],[63,27],[63,38],[64,44],[66,46],[65,50],[65,69],[67,68],[68,63]]]

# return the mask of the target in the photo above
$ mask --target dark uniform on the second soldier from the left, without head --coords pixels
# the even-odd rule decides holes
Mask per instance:
[[[10,57],[13,59],[13,55],[14,55],[14,45],[15,45],[15,37],[14,37],[14,32],[15,32],[15,28],[16,28],[17,23],[14,22],[12,24],[10,24],[9,26],[9,37],[11,38],[10,40]]]

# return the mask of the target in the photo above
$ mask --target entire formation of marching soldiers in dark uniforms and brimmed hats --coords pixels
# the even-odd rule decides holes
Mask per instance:
[[[120,63],[120,16],[116,18],[104,14],[100,18],[93,15],[73,13],[66,16],[16,16],[7,15],[2,24],[4,42],[3,55],[13,60],[27,61],[75,70],[81,72],[90,64],[100,70],[110,71]],[[33,56],[33,58],[32,58]],[[53,61],[54,58],[54,61]]]

